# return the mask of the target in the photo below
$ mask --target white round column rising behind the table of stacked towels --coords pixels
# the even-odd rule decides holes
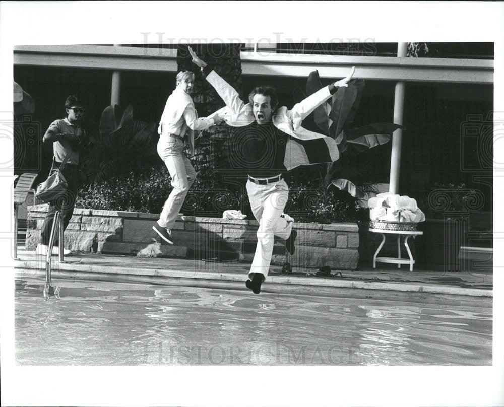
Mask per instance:
[[[406,57],[408,43],[400,42],[397,44],[397,56]],[[404,113],[404,88],[406,83],[400,81],[396,83],[396,92],[394,97],[394,123],[403,124]],[[399,173],[401,166],[401,143],[403,130],[398,129],[392,134],[392,155],[390,157],[390,181],[389,192],[399,193]]]

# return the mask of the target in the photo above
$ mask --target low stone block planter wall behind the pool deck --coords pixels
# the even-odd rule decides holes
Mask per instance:
[[[47,205],[28,208],[26,249],[35,250]],[[65,247],[75,252],[129,254],[150,257],[179,257],[240,260],[251,262],[257,244],[256,220],[227,220],[179,216],[173,228],[175,245],[160,244],[152,230],[157,214],[138,212],[74,210],[65,231]],[[357,224],[322,225],[295,223],[296,252],[290,262],[298,267],[353,270],[359,259]],[[272,264],[285,262],[285,242],[275,241]]]

